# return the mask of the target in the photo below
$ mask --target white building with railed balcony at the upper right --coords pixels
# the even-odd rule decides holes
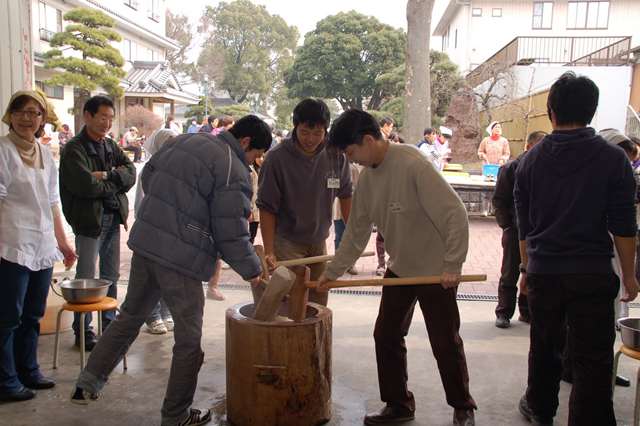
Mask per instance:
[[[479,102],[481,127],[501,121],[518,154],[528,132],[550,130],[547,93],[569,70],[600,88],[594,128],[634,126],[639,20],[637,0],[451,0],[434,35],[477,95],[492,91]]]

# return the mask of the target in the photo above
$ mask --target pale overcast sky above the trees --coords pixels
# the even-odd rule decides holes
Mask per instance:
[[[227,0],[231,1],[231,0]],[[395,28],[407,28],[406,0],[251,0],[253,3],[264,5],[269,13],[280,15],[289,25],[295,25],[300,32],[300,44],[304,41],[304,34],[312,31],[316,23],[329,15],[338,12],[355,10],[365,15],[378,18],[379,21]],[[216,6],[218,0],[165,0],[167,8],[172,13],[187,15],[195,27],[202,15],[205,6]],[[446,8],[448,0],[436,0],[433,11],[432,28],[438,23],[440,16]],[[184,6],[188,4],[188,8]],[[199,47],[194,43],[189,52],[189,59],[195,60]],[[433,46],[433,43],[432,43]]]

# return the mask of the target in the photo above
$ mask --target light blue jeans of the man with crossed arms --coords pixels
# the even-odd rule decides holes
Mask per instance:
[[[118,278],[120,278],[120,221],[115,214],[102,216],[102,232],[98,238],[76,235],[76,253],[78,264],[76,266],[76,278],[95,278],[96,259],[100,256],[100,279],[111,281],[107,296],[116,299],[118,297]],[[107,328],[109,323],[116,318],[115,311],[102,312],[102,328]],[[91,330],[91,313],[84,317],[84,327]],[[73,332],[76,336],[80,333],[80,314],[73,315]]]

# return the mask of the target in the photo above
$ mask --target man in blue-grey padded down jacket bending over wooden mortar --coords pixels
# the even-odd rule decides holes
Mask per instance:
[[[271,145],[269,126],[246,116],[228,132],[175,137],[142,171],[142,199],[129,237],[131,275],[121,314],[80,374],[72,402],[98,397],[160,297],[175,321],[175,345],[162,426],[201,425],[209,410],[191,408],[204,353],[202,282],[222,257],[252,285],[260,261],[249,242],[252,188],[248,164]]]

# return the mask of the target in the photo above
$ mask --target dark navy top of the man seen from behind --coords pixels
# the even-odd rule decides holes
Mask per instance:
[[[592,128],[554,131],[524,155],[514,198],[527,271],[612,273],[614,236],[634,237],[635,180],[621,148]]]

